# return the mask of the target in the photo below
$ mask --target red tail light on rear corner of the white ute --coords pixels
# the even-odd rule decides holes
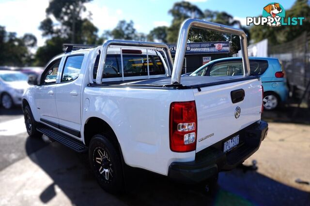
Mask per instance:
[[[195,101],[170,105],[170,149],[174,152],[196,150],[197,112]]]

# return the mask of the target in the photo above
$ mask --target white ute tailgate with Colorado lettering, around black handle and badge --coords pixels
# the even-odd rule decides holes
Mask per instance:
[[[194,91],[197,109],[197,147],[196,152],[209,147],[218,141],[261,119],[262,89],[261,81],[252,79],[201,88]],[[245,98],[232,103],[231,91],[244,89]],[[235,108],[241,108],[239,118],[235,118]],[[209,138],[199,141],[212,134]]]

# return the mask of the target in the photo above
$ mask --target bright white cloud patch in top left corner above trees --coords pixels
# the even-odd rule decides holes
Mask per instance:
[[[11,0],[0,3],[0,25],[17,36],[32,33],[37,37],[38,46],[44,44],[42,33],[38,29],[45,18],[48,0]]]

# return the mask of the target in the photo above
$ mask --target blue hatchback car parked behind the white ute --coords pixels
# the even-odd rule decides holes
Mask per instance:
[[[250,57],[250,74],[261,77],[264,96],[263,106],[273,110],[288,97],[286,79],[278,59]],[[238,57],[216,59],[203,65],[190,76],[243,75],[242,59]]]

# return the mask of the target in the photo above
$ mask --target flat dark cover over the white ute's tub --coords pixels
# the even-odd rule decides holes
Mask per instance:
[[[201,88],[214,85],[227,84],[232,82],[258,79],[259,76],[182,76],[182,84],[171,85],[171,77],[144,79],[144,80],[126,80],[117,82],[103,82],[102,84],[91,84],[96,87],[162,87],[162,88]]]

